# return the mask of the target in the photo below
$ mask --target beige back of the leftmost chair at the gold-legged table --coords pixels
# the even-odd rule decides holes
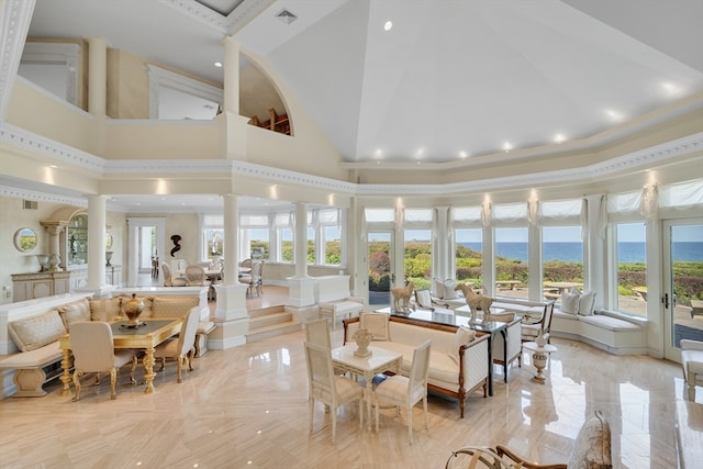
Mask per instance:
[[[114,343],[110,324],[89,321],[70,325],[74,367],[82,371],[105,371],[114,367]]]

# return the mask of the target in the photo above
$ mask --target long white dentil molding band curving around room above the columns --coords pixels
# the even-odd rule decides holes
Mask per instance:
[[[272,183],[304,186],[311,189],[358,196],[443,196],[461,192],[507,190],[517,187],[551,186],[604,178],[623,171],[635,171],[663,165],[676,158],[703,152],[703,132],[677,138],[590,166],[529,175],[461,181],[439,185],[364,185],[330,179],[303,172],[233,159],[120,159],[105,160],[86,152],[59,144],[13,125],[0,126],[0,142],[35,152],[63,164],[109,175],[208,175],[257,178]]]

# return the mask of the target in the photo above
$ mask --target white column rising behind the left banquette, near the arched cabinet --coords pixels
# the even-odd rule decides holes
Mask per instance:
[[[105,286],[107,196],[88,196],[88,290]]]

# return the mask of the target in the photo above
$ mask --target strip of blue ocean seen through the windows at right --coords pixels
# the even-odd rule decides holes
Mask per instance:
[[[481,243],[458,243],[471,250],[481,250]],[[618,243],[617,253],[621,263],[646,261],[645,243]],[[495,254],[510,259],[527,261],[527,243],[496,243]],[[545,243],[545,260],[563,260],[566,263],[583,261],[582,243]],[[673,259],[703,263],[703,242],[680,242],[673,244]]]

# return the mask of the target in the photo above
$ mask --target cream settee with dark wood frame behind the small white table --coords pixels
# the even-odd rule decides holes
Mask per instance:
[[[381,313],[366,313],[381,314]],[[344,320],[344,343],[352,340],[359,328],[359,317]],[[410,376],[415,347],[432,339],[427,388],[429,391],[459,401],[464,418],[465,401],[478,389],[488,391],[489,335],[450,325],[427,323],[410,317],[390,316],[387,340],[372,340],[371,345],[403,355],[401,373]]]

